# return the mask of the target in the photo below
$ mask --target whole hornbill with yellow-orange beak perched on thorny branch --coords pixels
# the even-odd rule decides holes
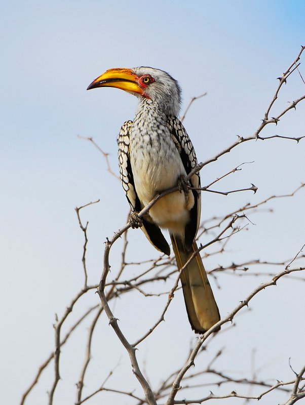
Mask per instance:
[[[150,243],[166,255],[170,247],[161,228],[168,229],[181,269],[198,250],[201,195],[199,172],[186,179],[197,159],[178,118],[179,85],[163,70],[136,67],[107,70],[87,90],[97,87],[116,87],[139,99],[134,120],[123,124],[118,137],[121,180],[132,210],[130,224],[140,226]],[[179,191],[159,199],[143,218],[137,216],[156,194],[177,185]],[[190,325],[204,333],[220,316],[199,253],[180,278]]]

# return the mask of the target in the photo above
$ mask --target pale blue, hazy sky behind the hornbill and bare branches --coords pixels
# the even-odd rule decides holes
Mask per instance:
[[[61,316],[83,285],[83,234],[74,208],[101,199],[82,212],[84,223],[89,221],[90,284],[100,277],[103,241],[124,224],[128,212],[123,189],[106,172],[102,155],[77,135],[93,137],[110,154],[111,167],[118,171],[116,137],[122,123],[133,118],[137,100],[116,89],[86,92],[87,86],[108,68],[144,65],[166,70],[179,81],[184,108],[191,97],[206,91],[208,95],[193,105],[184,121],[198,159],[205,160],[234,142],[237,135],[247,136],[258,127],[278,84],[276,78],[305,45],[304,21],[302,1],[12,0],[2,5],[1,403],[19,403],[37,368],[54,348],[54,314]],[[305,76],[303,66],[304,62],[300,70]],[[294,74],[271,116],[304,92],[304,84]],[[270,127],[264,134],[305,135],[304,117],[303,102],[295,112],[289,111],[278,127]],[[285,140],[248,142],[236,148],[201,172],[202,183],[254,160],[217,187],[226,191],[254,183],[258,191],[227,197],[204,193],[202,218],[225,214],[248,201],[255,203],[272,194],[291,192],[305,182],[304,155],[304,141],[298,145]],[[291,199],[270,203],[274,213],[253,215],[256,226],[237,235],[226,256],[207,260],[207,269],[219,260],[228,264],[293,257],[305,243],[304,203],[305,190]],[[158,256],[141,231],[130,232],[129,240],[130,260]],[[114,268],[119,264],[119,253],[120,244],[111,255]],[[136,274],[138,269],[129,271]],[[221,314],[231,311],[266,279],[223,275],[220,290],[212,281]],[[251,350],[256,348],[256,366],[263,367],[260,379],[293,379],[289,357],[296,371],[305,363],[304,296],[304,282],[280,280],[276,288],[253,300],[252,311],[237,318],[237,328],[213,341],[207,354],[198,359],[198,366],[205,367],[225,346],[217,366],[249,378]],[[166,296],[144,300],[139,294],[125,295],[118,301],[115,314],[128,339],[133,341],[153,325],[165,302]],[[89,293],[69,322],[96,303],[97,295]],[[89,324],[90,319],[62,350],[62,381],[55,393],[56,405],[74,403]],[[139,347],[140,365],[145,359],[153,387],[182,365],[194,336],[179,291],[166,322]],[[93,357],[85,394],[98,388],[119,360],[108,385],[142,394],[128,355],[108,327],[105,315],[94,335]],[[26,403],[47,403],[46,391],[52,381],[53,363]],[[208,388],[188,396],[208,395]],[[247,393],[246,387],[237,388],[239,393]],[[234,386],[211,388],[215,393],[231,389]],[[258,388],[255,392],[261,391]],[[280,393],[274,398],[273,403],[285,401]],[[269,397],[260,402],[270,403]],[[87,403],[134,402],[102,393]]]

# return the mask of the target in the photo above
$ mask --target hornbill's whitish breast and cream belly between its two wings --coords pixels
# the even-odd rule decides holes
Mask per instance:
[[[140,136],[135,132],[130,137],[130,163],[142,207],[158,192],[177,185],[181,175],[186,175],[168,128],[163,127],[160,132],[147,133],[142,129]],[[178,191],[160,199],[149,215],[160,227],[182,235],[193,205],[193,193],[185,196]]]

